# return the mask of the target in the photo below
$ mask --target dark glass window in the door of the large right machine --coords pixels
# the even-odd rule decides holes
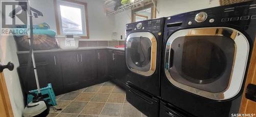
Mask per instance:
[[[222,92],[229,83],[234,41],[223,36],[176,38],[169,73],[174,80],[207,92]],[[217,85],[218,84],[218,85]]]

